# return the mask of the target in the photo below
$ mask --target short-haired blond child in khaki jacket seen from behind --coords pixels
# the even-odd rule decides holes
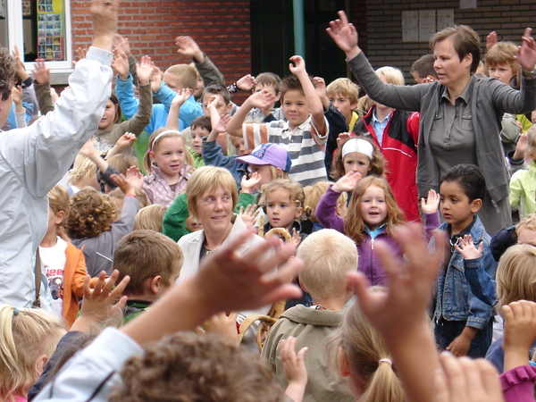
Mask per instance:
[[[304,262],[299,282],[313,298],[313,306],[289,308],[272,326],[261,356],[264,356],[285,388],[287,381],[279,356],[281,339],[297,339],[297,350],[308,348],[304,361],[309,381],[304,402],[316,400],[354,401],[348,385],[328,369],[326,343],[337,329],[345,304],[352,297],[347,273],[356,271],[356,244],[337,230],[323,229],[310,234],[297,249]]]

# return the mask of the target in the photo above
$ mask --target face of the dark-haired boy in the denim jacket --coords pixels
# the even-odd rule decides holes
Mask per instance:
[[[480,209],[480,199],[469,201],[465,191],[456,181],[443,181],[440,186],[440,208],[445,222],[451,225],[452,234],[464,230],[473,215]]]

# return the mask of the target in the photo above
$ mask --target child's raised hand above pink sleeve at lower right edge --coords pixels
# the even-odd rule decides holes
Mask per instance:
[[[502,307],[505,318],[505,371],[527,364],[536,339],[536,303],[520,300]]]

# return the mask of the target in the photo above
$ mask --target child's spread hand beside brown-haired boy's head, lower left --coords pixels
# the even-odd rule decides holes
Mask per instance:
[[[89,282],[91,278],[86,275],[80,316],[72,324],[71,331],[88,331],[94,324],[103,322],[115,314],[121,314],[127,303],[127,297],[121,297],[121,295],[130,281],[130,276],[125,276],[115,286],[118,277],[119,271],[117,270],[113,270],[112,275],[107,279],[106,272],[102,271],[98,275],[95,288],[90,289]],[[119,301],[117,301],[118,299]]]

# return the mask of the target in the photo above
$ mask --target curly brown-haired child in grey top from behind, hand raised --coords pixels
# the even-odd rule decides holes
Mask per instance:
[[[121,218],[115,222],[115,205],[105,194],[94,188],[83,188],[71,197],[65,231],[72,244],[84,251],[91,277],[96,277],[101,271],[108,275],[112,273],[115,245],[134,226],[139,209],[133,184],[138,180],[139,171],[136,171],[135,174],[127,172],[127,178],[112,176],[125,194]]]

